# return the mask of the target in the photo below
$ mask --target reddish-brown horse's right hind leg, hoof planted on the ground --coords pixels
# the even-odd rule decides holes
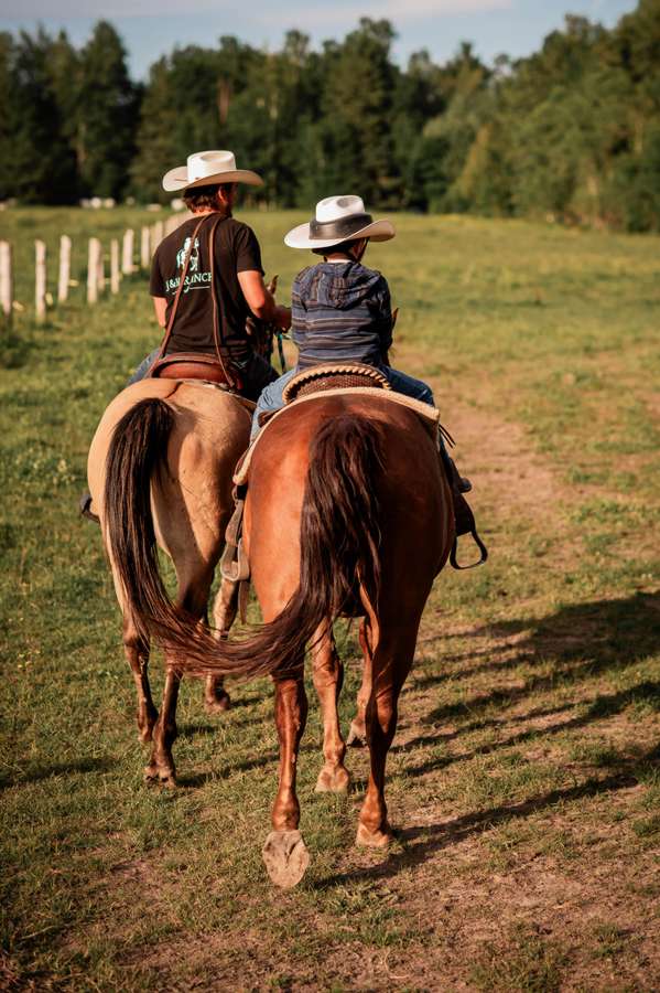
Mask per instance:
[[[367,704],[367,740],[371,771],[367,796],[360,811],[356,842],[358,845],[387,845],[392,831],[385,802],[385,766],[397,730],[398,701],[405,681],[416,641],[416,626],[411,636],[387,643],[381,632],[374,652],[374,685]]]

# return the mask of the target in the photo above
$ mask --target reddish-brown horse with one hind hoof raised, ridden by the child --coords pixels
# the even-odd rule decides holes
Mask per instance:
[[[309,862],[295,792],[307,713],[305,648],[324,722],[317,789],[346,790],[337,718],[343,666],[332,624],[340,616],[363,618],[365,675],[351,736],[366,736],[371,771],[357,842],[386,845],[385,766],[399,693],[454,538],[452,498],[432,434],[408,406],[368,393],[320,395],[285,408],[252,452],[244,542],[266,622],[253,637],[214,641],[171,612],[141,607],[143,623],[181,652],[183,669],[272,675],[280,781],[263,856],[283,886],[294,885]]]

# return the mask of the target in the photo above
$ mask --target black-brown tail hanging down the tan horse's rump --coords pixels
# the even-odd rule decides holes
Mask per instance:
[[[123,590],[125,609],[143,638],[161,626],[176,629],[187,622],[161,579],[151,512],[151,483],[166,465],[173,426],[174,412],[164,401],[140,401],[117,423],[106,457],[108,552]]]

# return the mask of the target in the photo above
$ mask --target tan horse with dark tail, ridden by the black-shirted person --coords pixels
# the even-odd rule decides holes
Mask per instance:
[[[149,685],[149,630],[133,605],[163,609],[170,600],[158,546],[171,557],[177,605],[205,620],[214,569],[234,509],[231,476],[248,444],[253,404],[209,384],[143,380],[107,408],[88,458],[89,491],[98,514],[123,615],[123,645],[138,692],[138,730],[153,740],[147,779],[174,786],[172,743],[181,672],[167,664],[160,717]],[[236,616],[236,586],[225,584],[214,627],[226,637]],[[166,660],[169,662],[169,660]],[[209,712],[225,709],[223,681],[208,675]]]

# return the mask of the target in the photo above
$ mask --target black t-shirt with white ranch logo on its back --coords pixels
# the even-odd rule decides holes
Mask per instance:
[[[215,354],[208,234],[216,220],[217,214],[209,214],[197,232],[184,288],[178,298],[172,335],[167,342],[167,354],[172,352]],[[153,256],[149,291],[152,297],[165,297],[167,300],[165,323],[170,320],[190,239],[198,223],[199,217],[185,221],[161,242]],[[214,248],[223,345],[234,362],[242,364],[252,354],[252,346],[246,333],[246,319],[250,308],[242,295],[238,273],[258,271],[263,275],[261,250],[255,232],[234,217],[223,217],[219,222]]]

